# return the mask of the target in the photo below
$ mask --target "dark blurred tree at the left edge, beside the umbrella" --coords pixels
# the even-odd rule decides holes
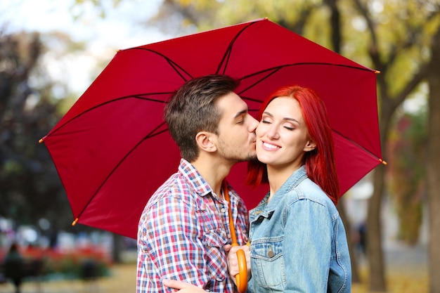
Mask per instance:
[[[63,223],[70,214],[63,187],[38,144],[60,118],[54,84],[44,77],[37,33],[0,32],[0,215],[17,225]],[[34,86],[34,83],[39,86]]]

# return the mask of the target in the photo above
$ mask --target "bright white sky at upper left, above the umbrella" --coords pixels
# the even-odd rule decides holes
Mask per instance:
[[[66,32],[73,41],[86,41],[86,50],[60,58],[56,50],[44,57],[53,79],[66,82],[75,92],[84,92],[96,75],[99,60],[112,58],[118,49],[169,39],[145,20],[155,15],[161,0],[124,0],[117,8],[104,0],[105,18],[96,7],[83,5],[70,10],[75,0],[0,0],[0,25],[7,32],[20,30]],[[72,15],[82,16],[75,20]],[[143,25],[141,25],[143,22]],[[103,68],[102,68],[103,69]],[[98,68],[98,72],[99,72]]]

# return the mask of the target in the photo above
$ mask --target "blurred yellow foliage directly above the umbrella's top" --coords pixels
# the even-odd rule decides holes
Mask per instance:
[[[253,19],[269,18],[292,32],[304,34],[306,22],[320,7],[321,1],[309,0],[254,0],[252,5],[249,0],[164,0],[150,23],[159,25],[162,30],[172,34],[189,34]],[[321,10],[318,13],[323,12]]]

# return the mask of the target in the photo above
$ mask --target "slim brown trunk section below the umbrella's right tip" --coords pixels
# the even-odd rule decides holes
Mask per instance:
[[[382,252],[382,194],[384,192],[384,165],[374,171],[374,192],[368,201],[367,257],[369,264],[369,290],[387,292],[384,278],[384,256]]]

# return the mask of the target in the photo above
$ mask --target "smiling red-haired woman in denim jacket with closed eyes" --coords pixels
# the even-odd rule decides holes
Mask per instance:
[[[259,120],[259,162],[250,163],[247,181],[268,183],[269,192],[250,211],[248,292],[351,292],[347,237],[336,209],[332,132],[323,101],[311,89],[286,86],[266,99]],[[182,292],[195,292],[179,286],[186,288]]]

